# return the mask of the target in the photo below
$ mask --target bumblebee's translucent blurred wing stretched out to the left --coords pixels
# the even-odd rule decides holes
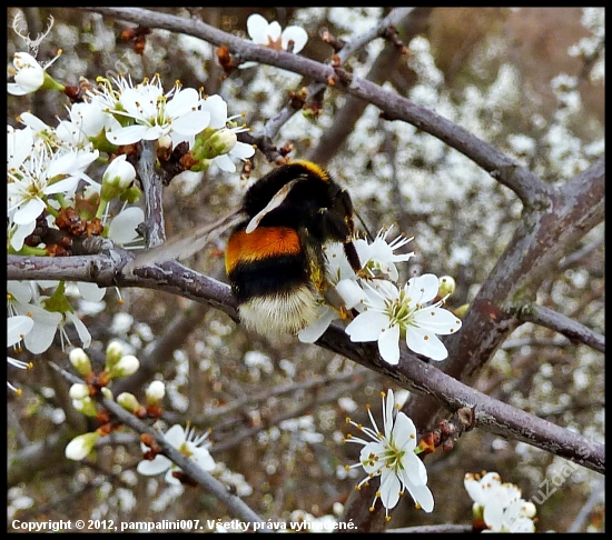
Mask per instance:
[[[149,267],[174,259],[187,259],[204,249],[208,242],[218,238],[227,229],[244,221],[246,217],[241,210],[236,210],[213,223],[207,223],[196,229],[190,229],[185,233],[177,234],[161,246],[138,253],[132,261],[126,264],[124,271],[130,272],[135,268]]]

